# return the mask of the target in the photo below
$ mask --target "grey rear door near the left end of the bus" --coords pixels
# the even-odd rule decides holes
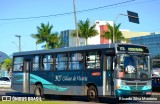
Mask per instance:
[[[30,93],[30,72],[31,59],[24,59],[24,75],[23,75],[23,93]]]

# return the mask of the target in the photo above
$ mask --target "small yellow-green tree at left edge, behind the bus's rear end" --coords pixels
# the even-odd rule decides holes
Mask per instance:
[[[6,69],[8,71],[8,73],[10,72],[10,69],[12,67],[12,59],[11,58],[6,58],[4,60],[4,63],[2,64],[2,67],[4,69]]]

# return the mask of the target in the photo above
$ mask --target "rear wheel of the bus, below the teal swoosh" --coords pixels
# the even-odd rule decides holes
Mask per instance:
[[[42,85],[38,84],[35,86],[34,94],[35,96],[38,96],[38,97],[44,97],[44,91],[43,91]]]

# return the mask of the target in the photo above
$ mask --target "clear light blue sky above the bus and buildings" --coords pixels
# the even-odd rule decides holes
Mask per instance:
[[[120,29],[160,32],[159,5],[160,0],[76,0],[76,10],[82,11],[77,12],[77,21],[87,18],[91,23],[113,21],[118,14],[127,14],[129,10],[138,13],[140,24],[120,15],[116,20],[116,24],[122,24]],[[36,40],[31,34],[37,33],[36,27],[41,23],[53,25],[52,32],[75,29],[73,11],[73,0],[0,0],[0,51],[9,56],[18,51],[15,35],[21,35],[22,51],[36,50]],[[38,45],[38,50],[42,45]]]

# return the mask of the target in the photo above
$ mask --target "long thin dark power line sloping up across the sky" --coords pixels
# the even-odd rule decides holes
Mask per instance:
[[[103,8],[107,8],[107,7],[117,6],[117,5],[129,3],[129,2],[132,2],[132,1],[135,1],[135,0],[128,0],[128,1],[124,1],[124,2],[111,4],[111,5],[106,5],[106,6],[101,6],[101,7],[96,7],[96,8],[86,9],[86,10],[80,10],[80,11],[77,11],[77,13],[88,12],[88,11],[103,9]],[[47,16],[24,17],[24,18],[8,18],[8,19],[0,19],[0,20],[1,21],[9,21],[9,20],[37,19],[37,18],[46,18],[46,17],[56,17],[56,16],[69,15],[69,14],[73,14],[73,13],[74,12],[67,12],[67,13],[59,13],[59,14],[53,14],[53,15],[47,15]]]

